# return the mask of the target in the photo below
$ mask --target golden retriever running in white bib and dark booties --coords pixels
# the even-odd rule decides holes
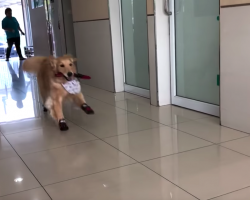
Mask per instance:
[[[24,71],[37,74],[44,110],[50,111],[62,131],[68,130],[62,111],[65,99],[73,100],[87,114],[94,114],[81,93],[79,81],[74,77],[74,61],[71,56],[65,55],[59,58],[32,57],[23,63]],[[62,76],[57,76],[58,74]]]

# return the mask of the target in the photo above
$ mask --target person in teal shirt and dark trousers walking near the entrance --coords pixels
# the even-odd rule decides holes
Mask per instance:
[[[20,48],[20,34],[25,35],[21,30],[19,23],[15,17],[12,17],[12,10],[10,8],[5,9],[6,17],[2,20],[2,29],[5,30],[7,36],[8,48],[6,52],[6,61],[9,61],[10,52],[13,44],[15,43],[17,54],[20,60],[25,60],[22,56],[21,48]]]

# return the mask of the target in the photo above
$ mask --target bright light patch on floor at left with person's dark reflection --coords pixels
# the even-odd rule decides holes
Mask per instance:
[[[0,60],[0,123],[36,117],[34,77],[21,70],[18,59]]]

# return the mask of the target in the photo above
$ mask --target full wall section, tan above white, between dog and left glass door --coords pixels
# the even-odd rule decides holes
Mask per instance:
[[[71,0],[77,68],[85,84],[115,91],[107,0]]]

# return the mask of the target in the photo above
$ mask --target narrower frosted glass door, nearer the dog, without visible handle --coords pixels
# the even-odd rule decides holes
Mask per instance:
[[[120,0],[125,91],[149,97],[147,0]]]

